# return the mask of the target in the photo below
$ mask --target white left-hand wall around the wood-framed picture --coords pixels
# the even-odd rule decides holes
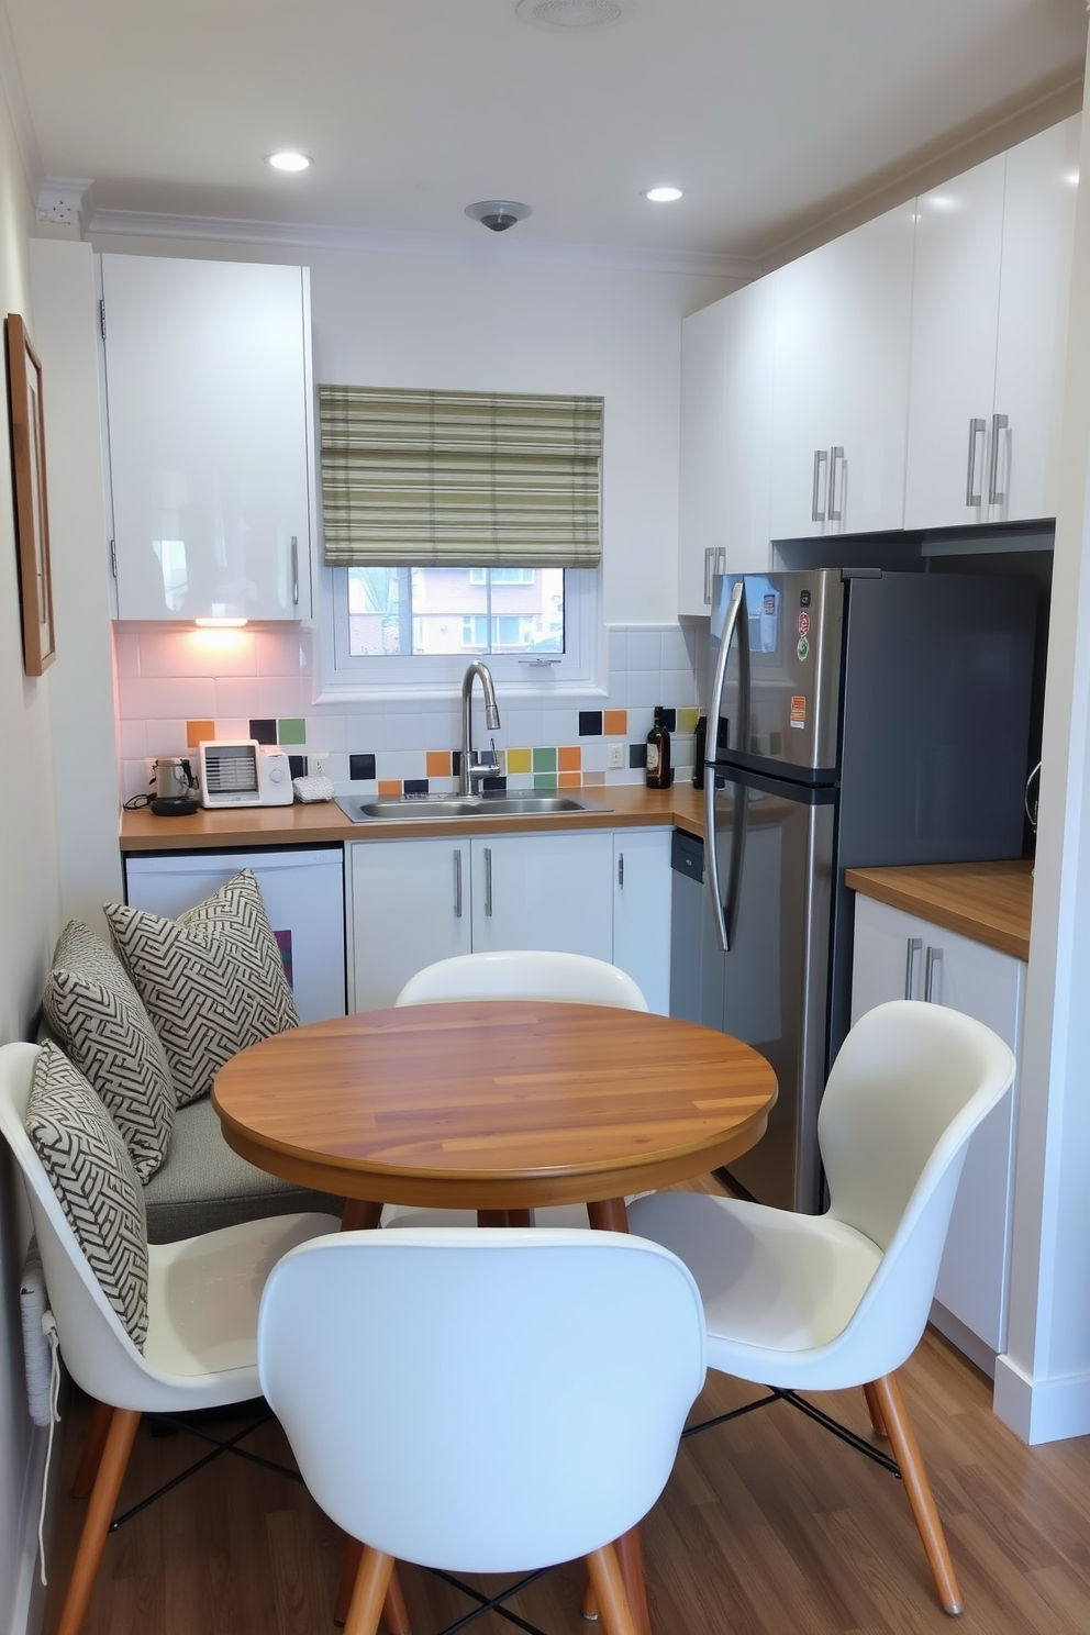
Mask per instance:
[[[33,219],[8,106],[0,95],[0,312],[23,314],[31,335],[28,240]],[[0,742],[10,777],[0,803],[0,1041],[31,1033],[59,922],[51,675],[46,672],[39,680],[23,675],[7,420],[0,455]],[[59,641],[64,641],[60,631]],[[33,1434],[26,1414],[18,1316],[18,1275],[28,1236],[23,1187],[5,1149],[0,1154],[0,1630],[11,1635],[21,1635],[31,1614],[41,1470],[41,1436]]]

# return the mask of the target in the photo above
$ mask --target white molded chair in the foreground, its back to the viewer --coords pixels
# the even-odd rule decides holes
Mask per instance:
[[[634,1635],[613,1540],[662,1493],[704,1382],[672,1254],[598,1231],[342,1233],[273,1269],[258,1372],[310,1493],[364,1545],[345,1635],[374,1635],[397,1558],[580,1555],[606,1635]]]

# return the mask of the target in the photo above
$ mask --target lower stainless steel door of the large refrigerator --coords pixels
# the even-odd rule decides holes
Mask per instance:
[[[766,1056],[780,1084],[768,1131],[729,1171],[758,1202],[807,1213],[820,1207],[833,813],[820,790],[768,793],[727,780],[716,795],[721,878],[735,873],[732,852],[744,847],[721,1025]]]

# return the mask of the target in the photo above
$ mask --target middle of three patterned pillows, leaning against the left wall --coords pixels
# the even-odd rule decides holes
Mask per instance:
[[[60,932],[46,1017],[124,1136],[141,1180],[167,1156],[175,1089],[163,1046],[113,948],[82,924]]]

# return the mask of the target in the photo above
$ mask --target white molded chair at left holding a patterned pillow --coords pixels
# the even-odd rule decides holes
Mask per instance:
[[[25,1128],[38,1045],[0,1048],[0,1131],[23,1171],[60,1355],[100,1404],[74,1493],[90,1506],[57,1635],[77,1635],[142,1413],[175,1414],[260,1396],[258,1301],[296,1244],[337,1233],[333,1215],[278,1215],[149,1244],[147,1339],[139,1352],[106,1300]],[[93,1481],[93,1488],[92,1488]]]

